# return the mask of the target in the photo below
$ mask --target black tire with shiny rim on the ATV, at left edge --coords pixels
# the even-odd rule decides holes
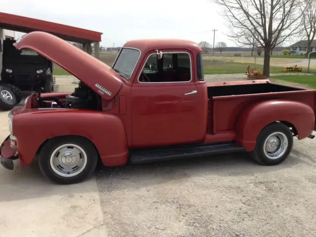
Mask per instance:
[[[0,84],[0,109],[11,110],[20,103],[22,99],[21,91],[11,84]]]

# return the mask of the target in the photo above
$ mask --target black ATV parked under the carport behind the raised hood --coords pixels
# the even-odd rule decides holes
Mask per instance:
[[[11,110],[22,100],[22,91],[54,90],[52,62],[33,50],[17,50],[15,40],[2,41],[0,109]]]

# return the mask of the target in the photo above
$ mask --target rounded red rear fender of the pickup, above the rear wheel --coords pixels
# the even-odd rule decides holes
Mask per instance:
[[[290,100],[268,100],[251,104],[237,118],[236,142],[252,151],[260,131],[275,121],[291,123],[298,139],[308,137],[314,130],[315,114],[313,109],[301,102]]]

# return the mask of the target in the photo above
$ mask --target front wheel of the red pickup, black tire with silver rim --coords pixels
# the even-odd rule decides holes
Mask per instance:
[[[42,174],[57,184],[75,184],[88,179],[97,161],[98,153],[94,145],[76,136],[48,140],[39,154]]]

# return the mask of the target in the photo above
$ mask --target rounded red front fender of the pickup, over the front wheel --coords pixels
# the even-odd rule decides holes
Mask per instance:
[[[127,162],[128,148],[122,121],[115,115],[83,110],[32,110],[13,117],[22,164],[32,162],[41,144],[58,136],[77,135],[89,139],[107,166]]]

